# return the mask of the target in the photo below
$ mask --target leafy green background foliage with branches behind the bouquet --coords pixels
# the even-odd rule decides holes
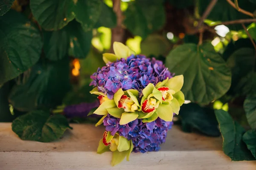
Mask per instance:
[[[0,121],[40,142],[95,122],[61,109],[96,99],[90,75],[119,40],[184,75],[183,131],[222,134],[232,160],[255,160],[255,10],[255,0],[0,0]]]

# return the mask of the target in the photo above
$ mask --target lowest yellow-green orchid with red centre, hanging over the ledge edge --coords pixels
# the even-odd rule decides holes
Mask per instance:
[[[129,161],[133,144],[131,140],[128,141],[125,137],[119,136],[118,133],[112,136],[110,132],[105,131],[103,138],[99,141],[97,153],[101,154],[109,150],[113,152],[111,165],[115,166],[122,162],[125,157],[126,160]]]

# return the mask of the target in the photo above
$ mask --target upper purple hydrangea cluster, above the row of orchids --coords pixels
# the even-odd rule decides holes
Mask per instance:
[[[90,85],[98,87],[98,90],[107,94],[109,99],[119,88],[124,90],[136,89],[142,92],[149,83],[156,85],[171,74],[163,65],[162,61],[155,58],[148,59],[143,55],[131,55],[127,59],[119,59],[116,62],[107,63],[106,66],[98,68],[91,78]]]

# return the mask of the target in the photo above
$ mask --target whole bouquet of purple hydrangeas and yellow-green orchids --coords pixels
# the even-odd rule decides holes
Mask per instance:
[[[106,129],[97,153],[112,151],[112,166],[125,157],[129,161],[132,151],[158,151],[184,102],[183,75],[174,77],[163,62],[136,55],[120,42],[113,49],[115,54],[103,54],[106,66],[90,84],[100,101],[96,126],[103,123]]]

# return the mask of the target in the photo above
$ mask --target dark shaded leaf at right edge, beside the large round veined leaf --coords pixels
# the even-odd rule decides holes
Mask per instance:
[[[255,52],[252,48],[239,48],[227,60],[232,72],[232,82],[228,95],[246,95],[250,92],[255,63]],[[244,88],[245,87],[245,88]]]

